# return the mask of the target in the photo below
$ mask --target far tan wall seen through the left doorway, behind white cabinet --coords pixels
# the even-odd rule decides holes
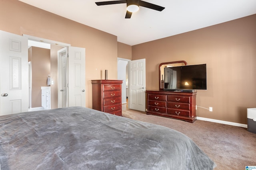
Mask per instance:
[[[41,107],[41,87],[47,86],[47,77],[50,74],[50,49],[30,47],[32,72],[31,107]],[[30,58],[30,57],[29,57]]]

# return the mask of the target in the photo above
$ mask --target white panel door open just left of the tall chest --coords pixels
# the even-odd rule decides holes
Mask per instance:
[[[68,47],[68,106],[85,107],[85,49]]]

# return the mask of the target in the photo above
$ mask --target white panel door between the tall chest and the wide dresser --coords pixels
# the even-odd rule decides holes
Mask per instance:
[[[146,109],[146,59],[133,60],[129,65],[129,109]]]

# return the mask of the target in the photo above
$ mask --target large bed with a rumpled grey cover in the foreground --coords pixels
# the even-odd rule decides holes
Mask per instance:
[[[67,107],[0,116],[1,170],[212,170],[173,129]]]

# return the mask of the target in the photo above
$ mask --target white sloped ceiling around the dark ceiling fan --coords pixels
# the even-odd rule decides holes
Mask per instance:
[[[48,12],[117,36],[136,45],[256,14],[256,0],[144,0],[165,7],[144,8],[125,19],[126,4],[97,6],[109,0],[20,0]]]

